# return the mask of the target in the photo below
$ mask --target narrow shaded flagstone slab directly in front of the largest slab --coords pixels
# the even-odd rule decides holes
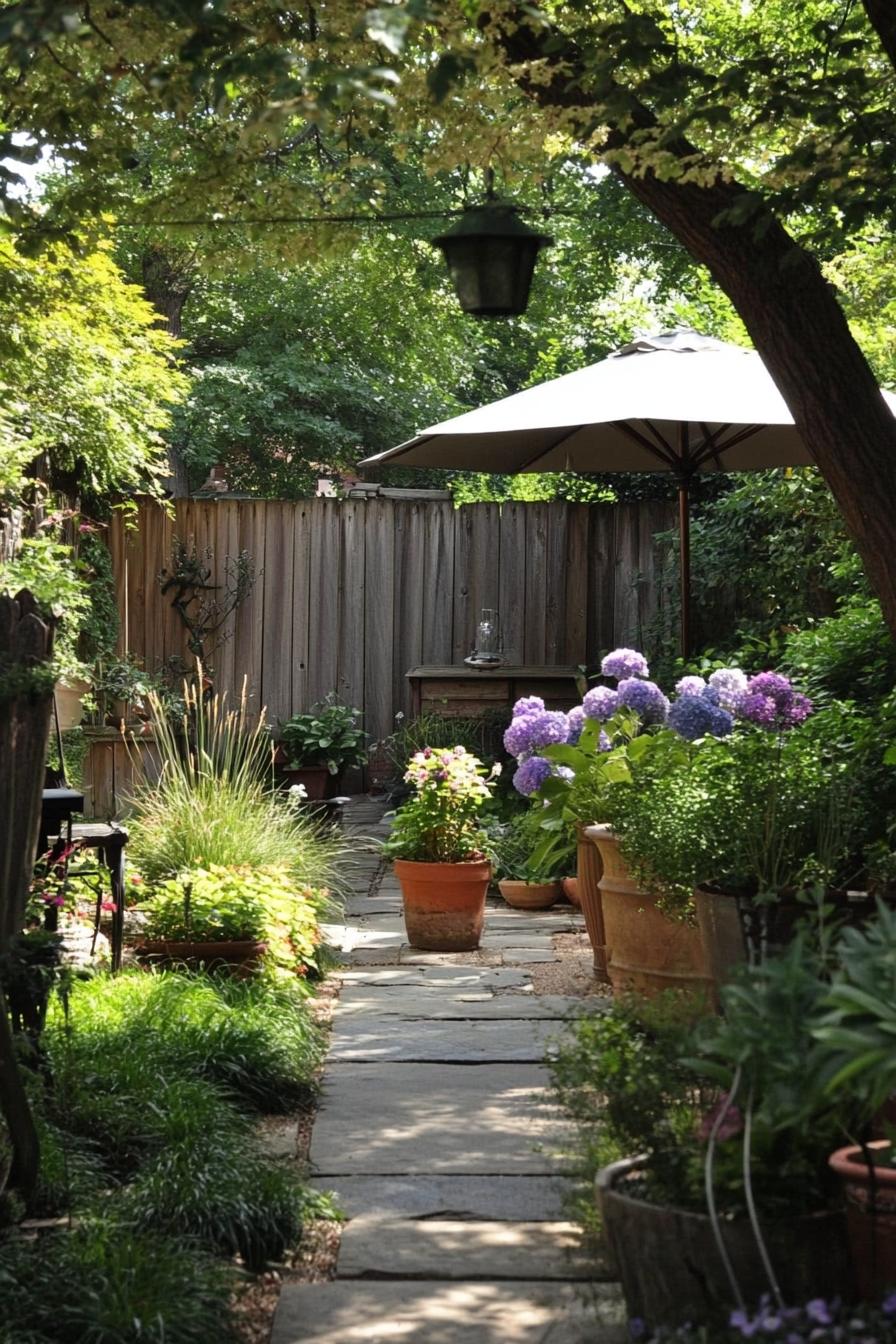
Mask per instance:
[[[560,1176],[318,1176],[347,1218],[563,1219],[567,1181]],[[390,1236],[388,1231],[383,1236]]]

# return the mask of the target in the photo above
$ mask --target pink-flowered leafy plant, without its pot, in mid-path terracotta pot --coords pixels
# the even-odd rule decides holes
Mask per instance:
[[[480,823],[500,766],[486,771],[466,747],[424,747],[408,763],[411,798],[395,813],[383,845],[391,859],[412,863],[469,863],[481,859],[488,839]]]

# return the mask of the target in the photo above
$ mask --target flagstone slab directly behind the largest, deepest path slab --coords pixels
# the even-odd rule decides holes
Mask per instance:
[[[556,1048],[555,1020],[433,1021],[400,1017],[345,1017],[333,1031],[329,1063],[345,1060],[445,1062],[449,1064],[540,1063]]]

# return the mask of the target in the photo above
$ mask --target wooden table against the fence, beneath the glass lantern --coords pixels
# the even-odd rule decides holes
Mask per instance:
[[[490,710],[510,708],[523,695],[540,695],[548,710],[571,710],[587,689],[576,667],[470,668],[418,667],[406,673],[411,684],[411,712],[443,718],[477,718]]]

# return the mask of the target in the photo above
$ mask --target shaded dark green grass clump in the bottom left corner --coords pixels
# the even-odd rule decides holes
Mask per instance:
[[[1,1344],[230,1344],[234,1275],[109,1216],[0,1241]]]

